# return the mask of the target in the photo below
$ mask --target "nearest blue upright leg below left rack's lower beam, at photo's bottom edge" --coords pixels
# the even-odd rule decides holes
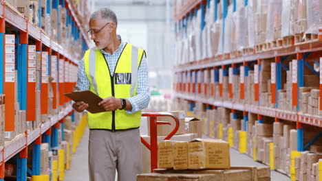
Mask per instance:
[[[17,159],[17,181],[27,180],[27,156],[28,156],[28,147],[25,148],[19,153]]]

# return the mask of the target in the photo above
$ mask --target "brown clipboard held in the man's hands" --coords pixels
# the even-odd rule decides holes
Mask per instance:
[[[98,106],[98,103],[100,103],[100,101],[103,101],[103,99],[100,98],[98,95],[94,94],[90,90],[65,93],[64,95],[75,102],[78,102],[78,101],[85,102],[86,104],[88,104],[88,108],[86,110],[88,110],[93,114],[98,112],[106,112],[104,108],[102,108],[101,106]]]

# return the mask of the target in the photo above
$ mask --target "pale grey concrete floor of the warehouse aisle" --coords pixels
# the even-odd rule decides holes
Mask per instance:
[[[141,134],[147,134],[147,122],[142,121],[141,125]],[[87,163],[87,154],[88,154],[88,136],[89,130],[87,129],[84,133],[83,139],[79,146],[77,147],[76,154],[71,163],[70,170],[65,172],[65,181],[74,181],[74,180],[89,180],[88,176],[88,163]],[[246,156],[246,154],[239,154],[237,150],[230,149],[230,162],[234,166],[260,166],[262,165],[259,162],[255,162],[253,158]],[[117,180],[117,178],[116,178]],[[290,178],[283,175],[277,171],[271,172],[272,181],[288,181]]]

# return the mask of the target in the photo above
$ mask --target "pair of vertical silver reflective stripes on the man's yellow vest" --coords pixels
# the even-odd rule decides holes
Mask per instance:
[[[98,95],[97,83],[95,78],[95,60],[96,60],[96,47],[90,49],[89,51],[89,75],[92,78],[92,84],[94,86],[94,90]],[[131,97],[133,97],[134,89],[136,88],[136,82],[138,82],[138,48],[132,46],[131,51]],[[116,67],[115,67],[116,69]],[[110,70],[111,71],[111,70]]]

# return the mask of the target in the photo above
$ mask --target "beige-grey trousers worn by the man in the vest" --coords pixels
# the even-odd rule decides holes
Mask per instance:
[[[89,131],[89,180],[136,181],[142,173],[140,129],[111,132]]]

